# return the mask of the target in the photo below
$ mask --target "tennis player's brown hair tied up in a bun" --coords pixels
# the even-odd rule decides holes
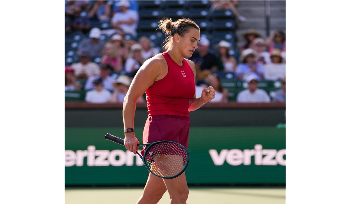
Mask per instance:
[[[173,22],[172,19],[169,19],[168,17],[162,18],[159,21],[158,29],[161,29],[167,36],[163,42],[163,47],[165,47],[165,49],[168,49],[176,33],[183,37],[186,33],[189,32],[190,28],[196,28],[198,31],[200,30],[197,23],[191,19],[182,18]]]

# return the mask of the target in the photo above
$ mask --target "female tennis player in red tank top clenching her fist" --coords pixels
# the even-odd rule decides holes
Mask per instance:
[[[138,139],[133,132],[135,104],[146,92],[148,118],[143,132],[143,143],[170,140],[188,148],[189,111],[200,108],[215,98],[209,86],[202,96],[195,95],[195,64],[191,57],[200,40],[200,28],[190,19],[173,22],[169,18],[159,21],[159,28],[167,35],[166,51],[148,59],[135,75],[123,105],[125,147],[136,154]],[[143,151],[141,153],[143,154]],[[138,204],[158,203],[168,190],[170,203],[186,203],[188,187],[185,173],[173,179],[149,174]]]

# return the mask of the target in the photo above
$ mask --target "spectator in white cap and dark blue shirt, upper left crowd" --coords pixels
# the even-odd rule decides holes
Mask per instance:
[[[92,28],[89,38],[85,38],[80,42],[78,50],[89,50],[91,57],[101,57],[106,42],[101,40],[100,37],[101,30],[99,28]]]

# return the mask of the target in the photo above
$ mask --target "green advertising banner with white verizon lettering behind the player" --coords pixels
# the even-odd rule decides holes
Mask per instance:
[[[142,131],[135,127],[140,142]],[[65,128],[66,186],[146,183],[139,156],[106,133],[124,139],[123,128]],[[285,128],[191,127],[189,138],[189,185],[286,183]]]

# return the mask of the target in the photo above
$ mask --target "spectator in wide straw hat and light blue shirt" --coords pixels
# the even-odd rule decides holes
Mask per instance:
[[[259,80],[264,79],[262,65],[256,61],[256,57],[257,54],[253,49],[243,50],[235,72],[239,80],[245,80],[249,75],[255,75]]]

